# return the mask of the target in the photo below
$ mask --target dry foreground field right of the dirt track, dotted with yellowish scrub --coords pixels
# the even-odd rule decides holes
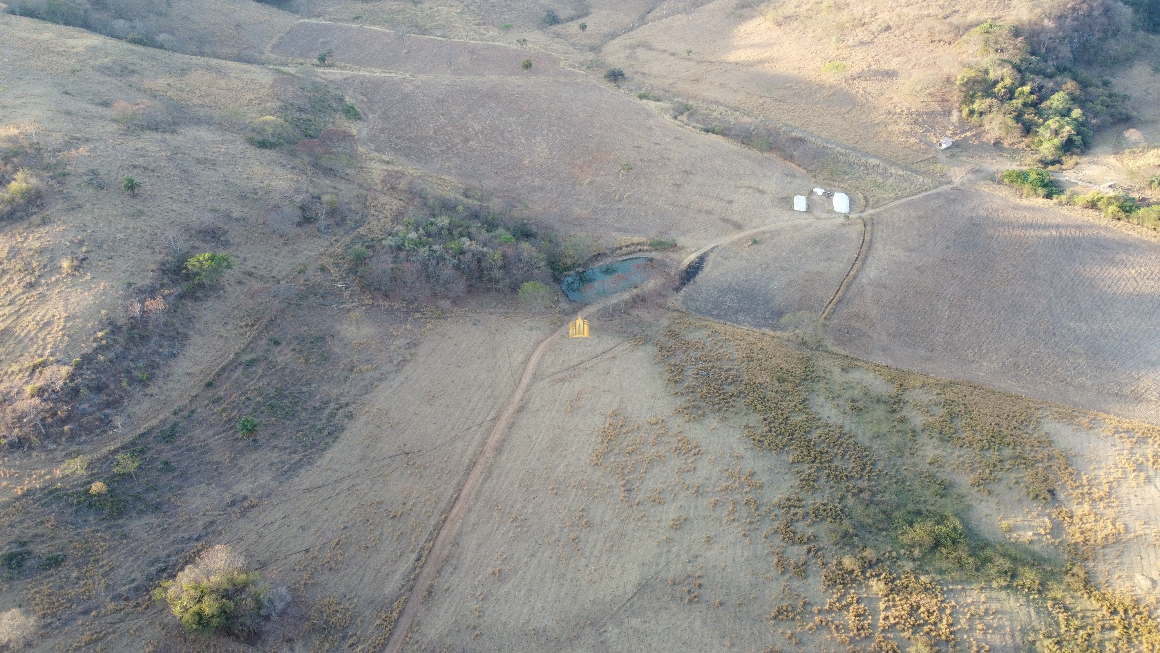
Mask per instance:
[[[911,499],[920,505],[963,501],[963,528],[979,538],[972,546],[1022,547],[1038,560],[1044,588],[1057,587],[1059,572],[1050,569],[1067,542],[1094,537],[1099,560],[1118,560],[1128,546],[1145,561],[1110,565],[1116,574],[1095,564],[1093,582],[1129,601],[1155,596],[1146,583],[1158,575],[1158,544],[1140,510],[1155,509],[1160,494],[1155,472],[1139,465],[1157,442],[1131,435],[1147,433],[1133,431],[1138,426],[1112,421],[1101,433],[1090,415],[1047,418],[1015,396],[809,355],[773,335],[666,322],[658,312],[593,324],[592,341],[552,347],[404,651],[838,652],[922,641],[940,651],[951,641],[957,650],[1021,651],[1052,634],[1042,590],[980,581],[991,573],[981,568],[944,568],[937,582],[908,576],[937,563],[900,551],[897,540],[892,550],[882,532],[862,534],[855,508],[818,516],[835,496],[821,479],[839,469],[865,473],[860,464],[883,465],[871,473],[884,492],[904,483],[912,492],[926,487]],[[785,380],[760,380],[774,370]],[[809,454],[820,443],[792,440],[771,445],[759,435],[757,402],[793,392],[843,425],[813,436],[832,438],[828,451]],[[978,443],[931,430],[951,411],[964,425],[1005,415],[996,428],[1012,429],[1010,437],[1042,425],[1058,444],[1036,441],[1024,452],[1058,451],[1075,467],[1052,476],[1059,489],[1046,502],[1027,496],[1010,474],[969,478]],[[1030,423],[1005,421],[1025,411]],[[1082,449],[1070,449],[1076,442]],[[945,466],[927,466],[935,457]],[[936,478],[944,480],[930,486]],[[1097,505],[1102,522],[1079,518]],[[1092,530],[1100,528],[1112,532]],[[1085,601],[1052,596],[1067,609]],[[1147,651],[1155,637],[1148,632],[1125,640],[1136,646],[1128,650]]]

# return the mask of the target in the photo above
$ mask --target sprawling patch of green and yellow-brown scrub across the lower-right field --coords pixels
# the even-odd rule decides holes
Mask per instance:
[[[911,458],[909,454],[884,445],[880,433],[865,433],[871,422],[861,421],[861,415],[872,402],[869,396],[861,404],[848,401],[848,420],[818,414],[811,398],[815,391],[832,387],[827,368],[819,368],[824,360],[820,355],[767,334],[687,315],[666,325],[657,339],[657,353],[669,383],[676,386],[675,393],[686,398],[679,408],[681,414],[694,419],[706,411],[727,415],[744,407],[760,420],[760,426],[742,426],[754,444],[788,456],[797,488],[773,502],[769,518],[775,525],[763,536],[770,543],[778,572],[805,578],[805,558],[795,563],[785,552],[785,546],[803,546],[807,552],[815,546],[811,544],[813,534],[803,531],[802,525],[825,523],[828,540],[839,552],[887,549],[886,556],[870,564],[847,565],[842,556],[842,564],[835,560],[822,574],[824,587],[838,596],[826,610],[854,609],[855,602],[841,595],[863,582],[861,579],[882,596],[875,650],[901,651],[889,631],[909,640],[912,650],[937,651],[955,641],[951,607],[937,582],[922,575],[925,572],[1017,592],[1024,601],[1066,614],[1082,616],[1099,607],[1102,616],[1083,618],[1100,641],[1115,638],[1155,651],[1148,647],[1153,641],[1150,638],[1158,632],[1148,612],[1151,604],[1088,586],[1064,589],[1064,571],[1058,563],[1006,542],[992,543],[965,525],[956,514],[963,506],[949,492],[948,480],[922,464],[929,450],[915,447],[914,455],[922,458]],[[1045,502],[1056,502],[1056,494],[1060,494],[1070,507],[1054,503],[1052,514],[1068,532],[1065,556],[1082,556],[1085,551],[1090,554],[1123,532],[1108,499],[1109,484],[1126,480],[1116,480],[1119,477],[1112,478],[1114,473],[1099,478],[1076,474],[1039,427],[1044,407],[1038,402],[966,383],[840,361],[843,372],[861,367],[890,382],[894,393],[884,394],[880,408],[875,408],[893,420],[889,429],[902,442],[926,434],[936,447],[957,450],[951,467],[966,474],[977,489],[986,492],[991,485],[1009,480]],[[825,399],[839,398],[840,393],[826,391]],[[836,401],[833,406],[840,407]],[[908,415],[904,407],[913,412]],[[914,413],[921,430],[911,426]],[[855,426],[846,426],[851,422]],[[1133,435],[1117,437],[1136,448],[1132,469],[1144,469],[1150,460],[1160,466],[1160,429],[1152,434],[1136,425],[1126,426],[1133,427]],[[778,511],[773,513],[773,508]],[[773,544],[774,538],[780,544]],[[890,549],[901,550],[913,561],[900,563]],[[825,565],[819,550],[813,554]],[[835,619],[827,614],[818,624],[831,627],[841,641],[865,632],[860,619],[848,617]],[[1045,650],[1085,650],[1068,648],[1074,641],[1064,639],[1060,641],[1066,646],[1051,648],[1056,636],[1044,632],[1043,641],[1049,645]]]

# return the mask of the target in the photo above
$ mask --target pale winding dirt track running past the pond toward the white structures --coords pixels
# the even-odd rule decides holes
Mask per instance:
[[[869,216],[871,213],[876,213],[878,211],[882,211],[890,206],[894,206],[902,202],[930,195],[931,193],[945,190],[947,188],[949,188],[949,184],[931,190],[927,190],[925,193],[920,193],[916,195],[912,195],[909,197],[904,197],[901,199],[891,202],[890,204],[885,204],[883,206],[878,206],[876,209],[871,209],[862,213],[854,213],[853,217],[861,217],[863,218],[864,222],[868,222]],[[749,238],[757,233],[774,231],[784,226],[806,223],[806,222],[814,222],[815,219],[817,218],[778,222],[768,225],[762,225],[756,228],[732,233],[709,245],[705,245],[699,249],[697,249],[696,252],[694,252],[693,254],[690,254],[681,262],[680,269],[683,270],[686,267],[689,266],[689,263],[695,261],[697,256],[705,254],[713,247],[718,247],[726,242],[732,242],[734,240],[739,240],[742,238]],[[858,257],[860,259],[862,257],[861,252]],[[855,264],[850,268],[849,273],[847,273],[846,278],[842,280],[842,283],[839,286],[839,292],[835,292],[834,298],[831,300],[832,305],[836,304],[838,299],[840,298],[841,289],[849,285],[851,277],[857,274],[858,267],[860,266]],[[607,297],[604,299],[589,304],[588,306],[585,306],[583,309],[580,310],[580,317],[589,315],[603,309],[604,306],[615,304],[616,302],[619,302],[624,297],[629,297],[633,293],[641,292],[651,286],[652,284],[646,284],[645,286],[641,288],[625,290],[617,295],[612,295],[611,297]],[[528,361],[523,365],[523,372],[520,376],[520,384],[516,385],[515,392],[512,393],[512,399],[509,399],[507,405],[503,407],[503,412],[500,413],[499,420],[495,421],[495,426],[492,428],[492,433],[487,436],[487,442],[484,443],[483,450],[480,451],[479,456],[476,457],[474,463],[472,463],[471,470],[467,472],[467,476],[463,481],[463,487],[459,488],[458,494],[456,494],[455,498],[451,500],[451,509],[448,510],[447,515],[441,520],[441,523],[437,527],[438,532],[435,536],[435,542],[432,544],[432,549],[427,553],[427,557],[423,559],[422,567],[419,569],[419,574],[415,576],[414,586],[412,587],[411,593],[407,595],[407,602],[403,608],[403,612],[399,614],[399,618],[394,622],[394,626],[391,629],[391,637],[386,640],[386,646],[384,647],[385,653],[398,653],[399,651],[403,650],[403,645],[406,641],[407,631],[411,630],[411,626],[415,621],[415,616],[422,608],[423,600],[430,592],[432,583],[435,582],[436,574],[438,574],[438,571],[443,567],[443,564],[447,561],[448,554],[450,553],[451,543],[455,540],[455,536],[458,534],[459,530],[459,523],[463,521],[463,515],[466,511],[467,507],[471,505],[472,499],[474,499],[476,492],[479,489],[479,484],[483,483],[484,474],[486,474],[487,470],[491,467],[492,460],[495,458],[496,455],[499,455],[500,449],[503,447],[503,441],[507,438],[507,431],[512,427],[512,423],[515,421],[515,416],[520,412],[520,407],[523,405],[524,393],[531,385],[532,378],[535,378],[536,376],[536,367],[539,364],[539,358],[544,355],[544,351],[548,350],[549,344],[551,344],[554,339],[561,338],[566,334],[567,334],[567,326],[560,327],[551,335],[545,338],[543,341],[541,341],[539,344],[536,346],[536,349],[531,351],[531,355],[528,356]]]

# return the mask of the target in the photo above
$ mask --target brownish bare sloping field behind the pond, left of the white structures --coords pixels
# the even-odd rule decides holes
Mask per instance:
[[[771,157],[690,133],[594,84],[386,75],[336,82],[367,107],[370,148],[510,196],[561,228],[699,244],[784,219],[789,196],[810,187]]]

